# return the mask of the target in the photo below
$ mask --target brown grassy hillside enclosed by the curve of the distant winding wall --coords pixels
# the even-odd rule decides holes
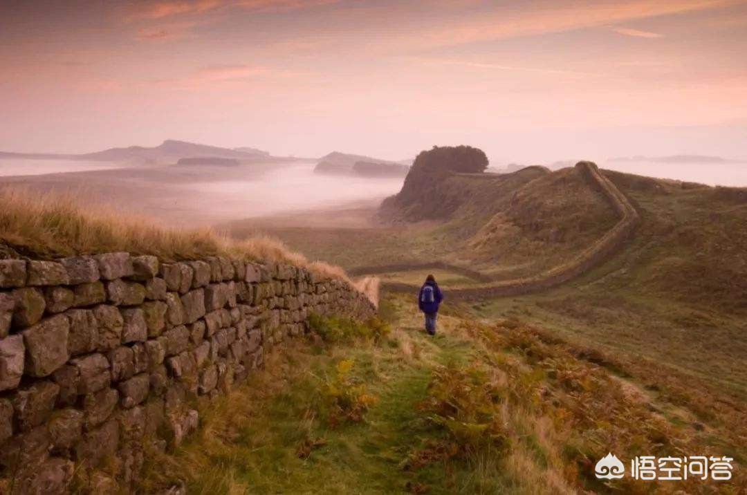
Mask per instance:
[[[479,178],[455,175],[442,189],[443,222],[378,228],[263,228],[310,258],[353,268],[444,260],[497,278],[538,273],[567,261],[617,218],[576,169],[539,168]],[[249,233],[236,227],[237,238]],[[339,249],[345,246],[345,249]]]

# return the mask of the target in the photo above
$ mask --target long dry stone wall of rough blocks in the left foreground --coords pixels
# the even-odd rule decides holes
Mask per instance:
[[[284,264],[1,260],[0,493],[63,493],[76,463],[94,469],[92,491],[132,482],[146,446],[196,429],[196,396],[229,390],[311,312],[375,308],[347,282]]]

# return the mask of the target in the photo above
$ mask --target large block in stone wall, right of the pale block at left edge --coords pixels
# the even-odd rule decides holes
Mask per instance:
[[[26,347],[25,373],[30,376],[49,376],[70,358],[67,337],[70,323],[58,314],[22,332]]]

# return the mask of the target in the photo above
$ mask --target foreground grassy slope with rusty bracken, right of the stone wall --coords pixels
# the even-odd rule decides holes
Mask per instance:
[[[683,449],[747,460],[743,412],[702,417],[697,402],[673,399],[667,384],[646,389],[630,364],[455,309],[430,338],[415,308],[389,299],[396,323],[379,344],[293,343],[271,354],[232,396],[202,403],[201,431],[146,463],[142,488],[186,480],[199,494],[573,493],[605,489],[592,469],[608,449],[624,459]],[[326,387],[345,361],[354,363],[354,386],[376,402],[362,421],[332,428]],[[428,419],[444,414],[456,423]],[[719,488],[628,479],[612,487]]]

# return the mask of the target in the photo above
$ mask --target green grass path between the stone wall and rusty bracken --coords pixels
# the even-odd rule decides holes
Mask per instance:
[[[450,466],[447,473],[443,463],[433,463],[411,472],[402,464],[436,435],[416,408],[433,367],[465,361],[471,345],[448,334],[447,318],[434,338],[416,326],[414,314],[400,316],[404,321],[382,345],[288,343],[274,352],[231,396],[201,405],[202,429],[176,456],[164,456],[147,481],[162,486],[186,479],[195,494],[417,493],[424,487],[429,494],[454,493],[466,467],[459,473]],[[324,387],[343,360],[353,361],[354,381],[376,402],[361,423],[333,428],[325,419]],[[303,446],[310,452],[300,456]]]

